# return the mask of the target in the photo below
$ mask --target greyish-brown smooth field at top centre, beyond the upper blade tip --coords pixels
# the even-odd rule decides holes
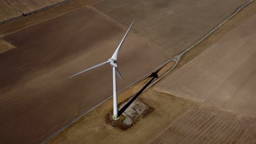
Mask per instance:
[[[109,0],[92,7],[122,25],[135,20],[133,31],[149,39],[171,56],[201,39],[248,0]],[[125,17],[125,19],[124,19]]]

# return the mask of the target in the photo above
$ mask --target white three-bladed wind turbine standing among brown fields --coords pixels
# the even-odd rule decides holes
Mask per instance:
[[[134,21],[133,21],[134,22]],[[114,119],[118,119],[118,101],[117,101],[117,76],[116,76],[116,73],[118,74],[118,76],[123,80],[123,77],[121,76],[121,74],[119,73],[117,67],[118,67],[118,64],[117,64],[117,57],[118,57],[118,53],[119,53],[119,50],[121,48],[121,46],[123,45],[124,43],[124,40],[127,36],[127,34],[129,33],[132,25],[133,25],[133,22],[131,23],[131,26],[129,27],[129,29],[127,30],[127,32],[125,33],[124,35],[124,38],[121,40],[121,43],[118,45],[117,47],[117,50],[115,50],[113,56],[111,58],[108,59],[108,61],[106,62],[103,62],[103,63],[100,63],[100,64],[97,64],[95,65],[94,67],[91,67],[89,69],[86,69],[86,70],[83,70],[71,77],[74,77],[74,76],[77,76],[79,74],[82,74],[88,70],[91,70],[91,69],[94,69],[94,68],[97,68],[97,67],[100,67],[101,65],[104,65],[104,64],[107,64],[109,63],[112,68],[113,68],[113,110],[114,110],[114,113],[113,113],[113,118]],[[69,79],[71,78],[69,77]]]

